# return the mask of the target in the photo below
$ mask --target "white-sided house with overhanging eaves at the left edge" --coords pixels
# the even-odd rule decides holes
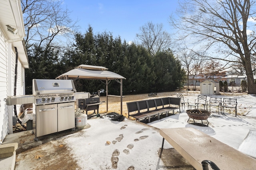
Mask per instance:
[[[17,96],[25,95],[24,71],[28,68],[28,57],[23,43],[24,37],[25,29],[20,0],[1,0],[0,144],[8,133],[12,133],[12,116],[14,115],[14,106],[7,106],[4,99],[14,95],[14,87],[16,87]],[[20,107],[17,106],[18,113],[19,109]]]

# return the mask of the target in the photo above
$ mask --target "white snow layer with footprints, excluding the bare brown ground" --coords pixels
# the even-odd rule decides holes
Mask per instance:
[[[194,91],[179,91],[177,93],[182,93],[184,99],[190,103],[194,102],[199,94]],[[175,92],[170,97],[175,97],[177,93]],[[83,170],[163,170],[166,165],[162,158],[159,158],[162,136],[159,134],[158,128],[193,127],[234,149],[256,157],[254,155],[256,153],[256,134],[254,133],[256,131],[256,96],[239,93],[222,93],[212,96],[236,98],[238,116],[235,116],[234,109],[226,109],[224,115],[221,113],[219,115],[218,107],[211,107],[212,116],[208,118],[210,122],[208,127],[189,124],[186,114],[187,106],[183,107],[181,113],[153,121],[147,125],[131,119],[118,122],[112,121],[108,117],[97,117],[87,120],[89,128],[64,136],[58,139],[58,143],[62,143],[68,148],[70,157],[76,160],[80,169]],[[245,138],[246,140],[244,140]],[[164,149],[170,148],[173,147],[165,142]],[[249,153],[249,151],[253,152]],[[40,154],[40,150],[38,150],[38,154]],[[22,158],[22,154],[18,155],[19,158]],[[28,161],[30,161],[29,164]],[[21,166],[22,164],[26,165],[27,169],[37,168],[38,160],[35,160],[33,156],[31,158],[26,156],[26,159],[19,161],[17,170],[24,168]],[[43,166],[47,167],[47,162],[40,164],[40,168]]]

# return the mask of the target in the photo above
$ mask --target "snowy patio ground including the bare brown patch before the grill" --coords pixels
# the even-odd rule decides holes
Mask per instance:
[[[173,94],[175,95],[176,93]],[[192,101],[197,95],[196,92],[186,92],[184,98]],[[218,95],[221,96],[223,95]],[[32,147],[36,144],[30,141],[30,137],[26,136],[26,139],[20,137],[18,140],[22,139],[22,143],[19,147],[23,149],[31,147],[31,149],[17,154],[15,169],[192,170],[194,168],[168,142],[164,143],[164,150],[161,158],[159,157],[162,136],[158,128],[176,127],[193,127],[234,149],[255,156],[255,138],[246,137],[250,130],[251,132],[256,130],[256,96],[232,94],[228,97],[237,98],[238,116],[235,117],[232,111],[232,114],[218,115],[216,112],[218,107],[216,110],[212,107],[213,116],[208,118],[210,122],[208,127],[188,124],[186,106],[185,109],[183,107],[182,113],[148,124],[130,119],[122,122],[111,121],[108,117],[88,119],[88,126],[84,129],[61,137],[54,138],[54,134],[50,135],[49,138],[52,138],[50,142],[45,143],[42,140],[37,147]],[[239,115],[241,111],[244,111],[243,115]],[[248,140],[244,140],[245,138]],[[177,160],[179,161],[176,162]]]

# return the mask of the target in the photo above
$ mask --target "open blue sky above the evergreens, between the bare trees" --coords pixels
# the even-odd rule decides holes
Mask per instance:
[[[175,12],[178,0],[64,0],[64,5],[70,17],[79,20],[81,33],[90,24],[94,34],[107,31],[129,42],[149,21],[162,23],[164,30],[172,33],[168,18]]]

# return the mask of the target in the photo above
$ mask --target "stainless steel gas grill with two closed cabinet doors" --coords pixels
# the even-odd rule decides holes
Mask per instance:
[[[35,134],[40,136],[75,128],[73,80],[33,79]]]

